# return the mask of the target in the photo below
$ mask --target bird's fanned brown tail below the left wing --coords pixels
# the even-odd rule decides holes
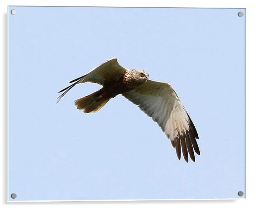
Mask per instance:
[[[103,98],[101,90],[92,93],[91,95],[75,100],[75,105],[84,113],[92,113],[100,110],[110,98]]]

